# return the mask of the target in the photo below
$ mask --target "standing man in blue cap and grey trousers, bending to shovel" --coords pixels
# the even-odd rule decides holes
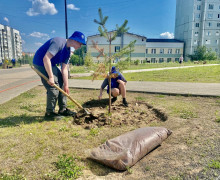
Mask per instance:
[[[47,90],[47,107],[45,119],[60,119],[62,116],[72,116],[74,112],[67,109],[66,96],[64,96],[53,85],[56,84],[69,94],[68,68],[67,64],[70,57],[70,47],[75,50],[85,45],[85,36],[79,31],[75,31],[68,39],[55,37],[43,44],[35,53],[33,65],[42,74],[48,77],[48,81],[41,78]],[[57,67],[62,65],[61,71]],[[58,101],[59,111],[55,113]]]

